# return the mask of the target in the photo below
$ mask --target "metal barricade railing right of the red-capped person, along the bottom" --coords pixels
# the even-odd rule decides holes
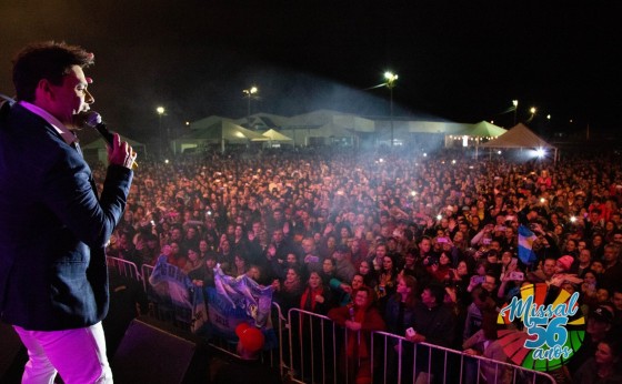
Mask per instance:
[[[371,332],[365,361],[358,354],[362,333],[348,352],[349,332],[329,317],[292,309],[289,367],[297,383],[353,383],[358,370],[369,370],[373,383],[448,384],[554,384],[543,372],[511,363],[473,356],[428,343],[411,343],[388,332]],[[370,360],[370,361],[369,361]],[[368,375],[368,373],[365,373]]]

